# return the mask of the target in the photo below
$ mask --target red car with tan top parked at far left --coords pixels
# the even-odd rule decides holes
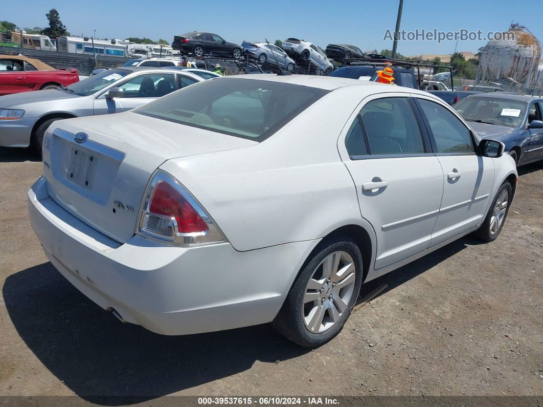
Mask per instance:
[[[79,82],[77,69],[56,69],[18,55],[0,55],[0,96],[31,90],[56,89]]]

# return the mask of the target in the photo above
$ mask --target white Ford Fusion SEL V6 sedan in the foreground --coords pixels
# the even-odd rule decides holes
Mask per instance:
[[[496,239],[517,179],[502,153],[426,92],[224,77],[54,122],[29,213],[52,264],[123,321],[273,321],[318,346],[365,281],[474,231]]]

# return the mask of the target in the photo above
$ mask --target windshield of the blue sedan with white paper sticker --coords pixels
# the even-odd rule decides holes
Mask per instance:
[[[518,128],[524,121],[527,103],[490,97],[466,97],[453,108],[467,121]]]

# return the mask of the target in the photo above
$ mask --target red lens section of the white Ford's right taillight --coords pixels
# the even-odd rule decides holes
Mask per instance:
[[[207,232],[207,224],[190,203],[166,181],[155,185],[149,212],[175,218],[179,233]]]

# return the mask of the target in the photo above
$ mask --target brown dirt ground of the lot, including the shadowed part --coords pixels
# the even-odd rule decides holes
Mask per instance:
[[[167,337],[61,277],[27,217],[39,158],[0,148],[0,395],[543,395],[543,165],[520,168],[500,237],[461,239],[302,349],[268,325]],[[235,316],[232,316],[235,317]]]

